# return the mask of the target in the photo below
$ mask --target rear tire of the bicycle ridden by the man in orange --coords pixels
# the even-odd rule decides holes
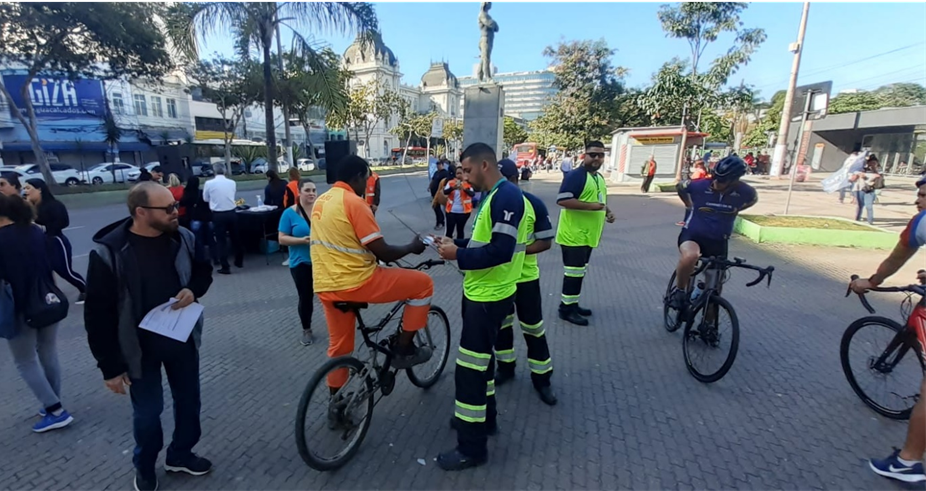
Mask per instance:
[[[366,438],[367,430],[370,429],[370,421],[373,419],[373,407],[375,405],[375,401],[373,400],[373,381],[367,377],[365,383],[370,394],[367,398],[368,416],[364,418],[363,423],[361,423],[359,436],[345,451],[331,460],[320,459],[309,451],[308,444],[305,441],[305,413],[308,410],[309,400],[318,384],[325,384],[324,389],[328,390],[328,384],[325,378],[328,373],[337,368],[353,368],[357,373],[360,373],[363,371],[364,365],[360,360],[352,356],[341,356],[328,360],[321,368],[316,370],[312,378],[309,379],[309,383],[302,392],[302,398],[299,400],[299,408],[296,410],[296,448],[299,449],[299,456],[302,457],[306,465],[321,472],[342,467],[353,458],[354,454],[360,449],[360,444],[363,443],[363,439]]]

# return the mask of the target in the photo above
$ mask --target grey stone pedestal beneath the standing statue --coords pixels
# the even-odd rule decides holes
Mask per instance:
[[[493,82],[467,87],[463,95],[463,148],[485,143],[501,159],[505,144],[505,91]]]

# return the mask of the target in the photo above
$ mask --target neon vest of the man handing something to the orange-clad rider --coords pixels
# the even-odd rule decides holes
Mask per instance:
[[[476,222],[473,224],[473,237],[470,239],[467,248],[484,247],[492,240],[493,233],[502,233],[515,237],[514,256],[511,261],[498,266],[479,270],[466,271],[463,279],[463,294],[469,300],[474,302],[497,302],[504,300],[515,294],[517,291],[517,281],[521,277],[521,269],[524,266],[524,256],[527,251],[527,237],[529,235],[527,223],[533,223],[533,207],[524,207],[524,218],[518,224],[518,228],[505,223],[492,225],[492,197],[489,196],[480,205],[479,214]],[[523,198],[527,203],[527,198]],[[530,218],[528,219],[528,216]]]

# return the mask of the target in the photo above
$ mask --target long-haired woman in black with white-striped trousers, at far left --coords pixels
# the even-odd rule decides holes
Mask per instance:
[[[26,200],[35,207],[35,224],[45,231],[46,247],[51,267],[58,276],[64,278],[77,291],[77,305],[84,303],[87,297],[87,282],[83,276],[74,271],[71,242],[64,235],[64,229],[71,224],[68,209],[51,193],[48,184],[41,179],[29,179],[23,186]]]

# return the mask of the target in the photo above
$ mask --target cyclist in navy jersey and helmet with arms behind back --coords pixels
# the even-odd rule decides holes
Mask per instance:
[[[682,181],[678,195],[691,210],[678,234],[676,288],[671,306],[681,309],[688,300],[685,291],[701,256],[727,257],[727,241],[733,233],[736,215],[756,204],[756,190],[741,182],[746,163],[736,155],[722,159],[710,179]]]

